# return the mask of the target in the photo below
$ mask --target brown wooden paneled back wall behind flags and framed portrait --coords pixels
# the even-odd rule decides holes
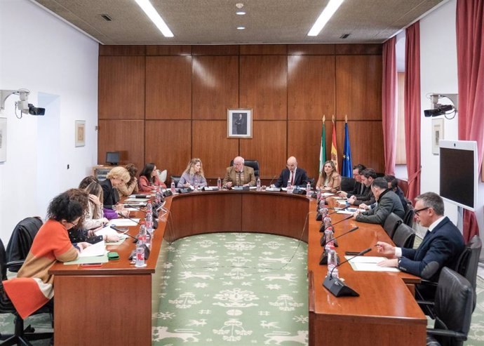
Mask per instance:
[[[253,109],[253,138],[227,138],[227,109]],[[347,114],[353,164],[384,171],[382,46],[100,46],[98,163],[147,162],[180,175],[200,157],[207,178],[258,159],[271,179],[294,155],[318,174],[323,114],[341,165]]]

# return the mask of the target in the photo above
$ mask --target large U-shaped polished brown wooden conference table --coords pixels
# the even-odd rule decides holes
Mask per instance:
[[[333,204],[334,201],[330,201]],[[163,241],[212,232],[259,232],[292,237],[308,244],[309,345],[424,345],[426,318],[412,295],[419,278],[402,272],[356,272],[348,264],[340,277],[359,297],[336,298],[323,286],[326,265],[319,265],[320,221],[316,199],[285,192],[222,190],[175,194],[166,198],[147,266],[137,268],[128,257],[132,239],[107,246],[119,260],[101,267],[56,263],[55,345],[152,345],[152,285],[163,276],[159,262]],[[347,215],[331,215],[333,223]],[[144,218],[137,211],[133,218]],[[335,236],[337,253],[361,251],[376,241],[391,243],[379,225],[345,220]],[[128,233],[137,234],[138,227]],[[368,255],[377,255],[373,247]],[[410,288],[410,289],[409,289]],[[162,298],[159,298],[162,299]]]

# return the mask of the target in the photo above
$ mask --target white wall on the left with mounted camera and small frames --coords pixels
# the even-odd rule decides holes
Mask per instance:
[[[48,201],[97,163],[98,43],[30,1],[1,0],[0,89],[18,88],[29,89],[29,102],[46,114],[16,119],[16,95],[0,114],[8,119],[7,161],[0,164],[4,244],[18,221],[44,217]],[[76,119],[86,121],[85,147],[74,147]]]

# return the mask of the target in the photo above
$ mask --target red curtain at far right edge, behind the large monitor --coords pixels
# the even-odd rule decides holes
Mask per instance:
[[[457,1],[459,140],[476,140],[479,167],[484,149],[484,1]],[[478,234],[476,215],[464,211],[464,239]]]

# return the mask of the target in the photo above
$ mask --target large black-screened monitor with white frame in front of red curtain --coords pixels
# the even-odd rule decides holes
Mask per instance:
[[[474,211],[478,197],[477,142],[441,140],[441,197]]]

